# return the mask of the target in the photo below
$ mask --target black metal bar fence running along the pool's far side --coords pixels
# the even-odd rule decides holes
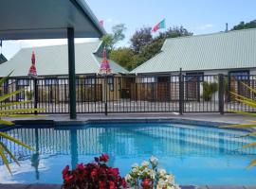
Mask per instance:
[[[256,88],[256,76],[224,75],[149,75],[77,77],[78,113],[115,112],[255,112],[237,102],[230,92],[255,99],[243,84]],[[1,103],[2,110],[44,108],[39,113],[68,113],[67,77],[11,77],[0,87],[1,94],[25,88]],[[4,104],[30,100],[25,104],[5,107]],[[33,112],[32,112],[33,113]]]

